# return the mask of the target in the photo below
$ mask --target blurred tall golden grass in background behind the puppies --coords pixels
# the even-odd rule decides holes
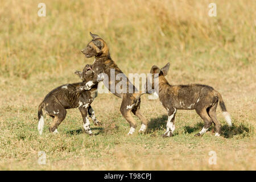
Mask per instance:
[[[255,64],[255,1],[214,1],[216,17],[208,16],[212,1],[44,1],[46,17],[39,2],[0,2],[2,76],[82,68],[89,31],[125,72],[167,61],[192,73]]]

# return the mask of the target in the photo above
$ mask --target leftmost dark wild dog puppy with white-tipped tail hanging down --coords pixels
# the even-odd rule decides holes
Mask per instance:
[[[86,133],[92,135],[88,115],[92,118],[95,125],[100,125],[100,122],[96,119],[94,111],[90,106],[94,98],[97,97],[97,84],[90,90],[76,92],[77,86],[84,85],[84,82],[90,81],[93,77],[93,72],[90,68],[90,65],[86,65],[82,72],[75,72],[83,82],[61,85],[49,92],[44,98],[43,102],[38,107],[38,131],[40,135],[42,135],[44,127],[43,113],[46,113],[53,118],[53,123],[49,127],[49,131],[51,133],[57,133],[57,127],[66,117],[66,109],[76,107],[79,107],[81,112]]]

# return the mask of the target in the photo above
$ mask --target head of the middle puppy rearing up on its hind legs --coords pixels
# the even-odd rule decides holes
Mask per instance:
[[[92,34],[90,32],[90,36],[92,36],[92,40],[87,44],[87,46],[81,50],[81,52],[85,55],[85,57],[94,57],[100,56],[102,54],[109,55],[109,48],[105,41],[100,38],[100,36],[96,34]]]

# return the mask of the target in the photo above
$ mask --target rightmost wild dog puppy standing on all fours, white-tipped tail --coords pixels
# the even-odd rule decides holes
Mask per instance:
[[[191,85],[170,85],[164,76],[167,75],[170,63],[166,64],[163,68],[159,69],[157,66],[151,68],[152,74],[152,89],[158,90],[159,100],[162,102],[164,108],[168,112],[167,130],[163,137],[172,137],[175,130],[175,114],[177,109],[192,110],[195,109],[196,113],[204,121],[203,129],[195,136],[203,135],[212,125],[215,125],[216,134],[220,136],[221,125],[217,120],[216,108],[218,101],[220,101],[221,110],[225,116],[226,122],[232,126],[231,118],[226,110],[224,101],[221,94],[214,90],[211,86],[191,84]],[[156,75],[157,74],[157,75]],[[158,77],[158,88],[154,88],[154,78]],[[147,79],[147,82],[149,79]]]

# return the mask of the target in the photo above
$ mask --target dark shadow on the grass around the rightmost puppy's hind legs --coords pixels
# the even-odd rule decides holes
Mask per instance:
[[[184,130],[185,133],[193,133],[195,131],[200,131],[203,129],[204,123],[196,123],[195,126],[185,126]],[[214,125],[210,126],[209,131],[214,133]],[[221,126],[221,133],[224,138],[233,138],[234,135],[241,135],[241,137],[249,137],[251,134],[251,131],[249,127],[245,126],[243,123],[240,125],[233,125],[232,127],[229,127],[228,125]]]

